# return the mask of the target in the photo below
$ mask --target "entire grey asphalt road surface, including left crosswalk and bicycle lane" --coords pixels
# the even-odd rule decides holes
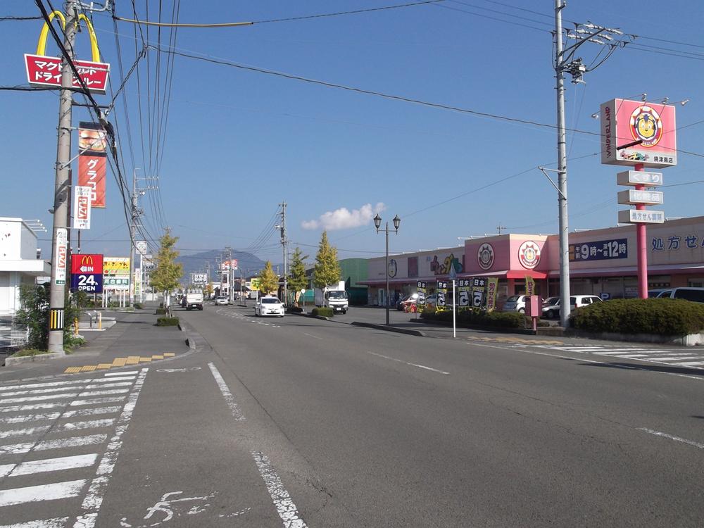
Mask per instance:
[[[176,315],[196,349],[174,360],[0,383],[0,528],[702,525],[704,370]]]

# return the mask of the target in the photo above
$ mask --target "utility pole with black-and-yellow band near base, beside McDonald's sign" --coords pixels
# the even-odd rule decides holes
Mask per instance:
[[[63,47],[73,56],[76,37],[77,4],[67,0]],[[68,192],[71,163],[71,105],[73,70],[67,57],[61,65],[61,94],[58,106],[58,143],[54,182],[54,230],[51,234],[51,284],[49,286],[49,352],[63,353],[63,307],[68,277]]]

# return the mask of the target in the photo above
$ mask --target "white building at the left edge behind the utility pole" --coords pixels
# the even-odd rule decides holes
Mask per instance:
[[[0,217],[0,315],[20,308],[20,285],[51,275],[51,265],[37,259],[37,234],[22,218]]]

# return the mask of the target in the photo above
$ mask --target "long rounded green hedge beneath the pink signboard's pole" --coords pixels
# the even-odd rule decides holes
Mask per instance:
[[[571,322],[589,332],[684,336],[704,329],[704,304],[669,298],[614,299],[574,310]]]

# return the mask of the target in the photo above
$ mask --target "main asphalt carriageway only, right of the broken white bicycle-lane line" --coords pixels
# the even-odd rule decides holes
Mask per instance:
[[[704,518],[700,371],[234,307],[184,320],[219,356],[248,419],[260,417],[254,437],[277,432],[258,441],[310,526]]]

